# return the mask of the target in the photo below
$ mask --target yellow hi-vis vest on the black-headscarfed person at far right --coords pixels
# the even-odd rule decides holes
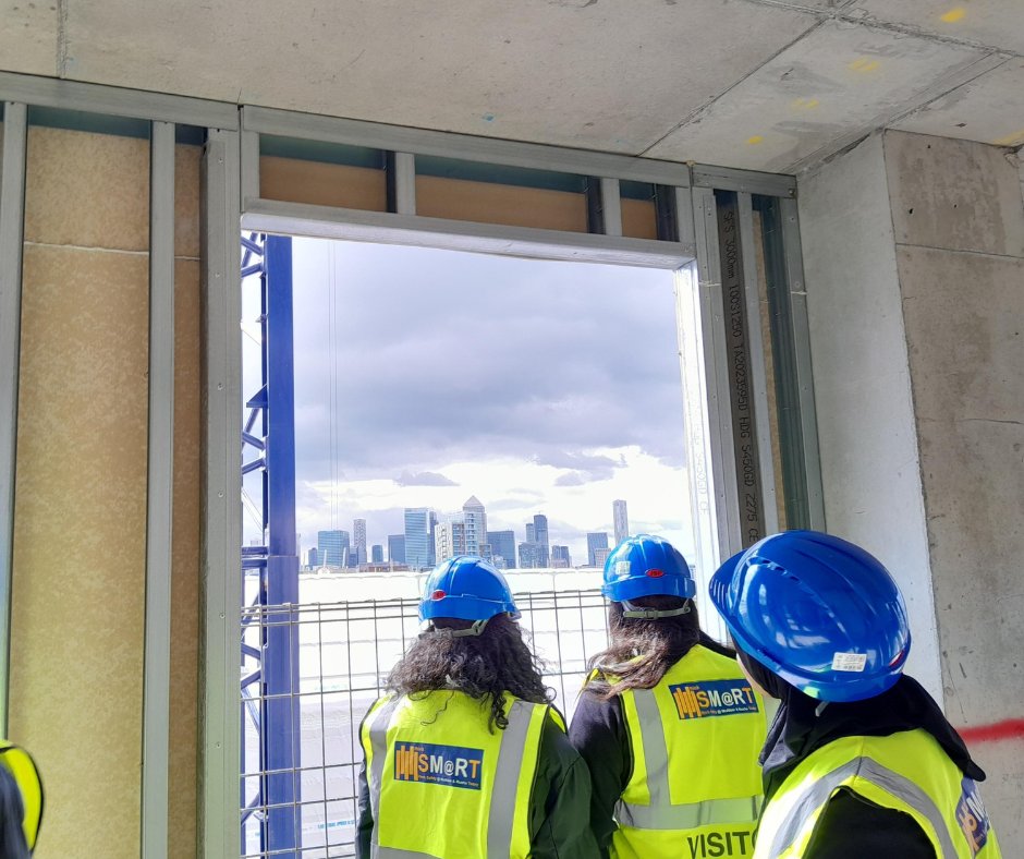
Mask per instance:
[[[841,787],[910,814],[939,859],[997,859],[996,833],[974,782],[924,730],[844,737],[790,773],[765,807],[757,859],[801,857],[829,797]]]

